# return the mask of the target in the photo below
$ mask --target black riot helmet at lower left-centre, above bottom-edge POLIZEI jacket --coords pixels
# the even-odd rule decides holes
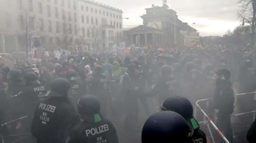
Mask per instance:
[[[81,115],[99,114],[100,101],[93,95],[85,95],[77,101],[77,107]]]

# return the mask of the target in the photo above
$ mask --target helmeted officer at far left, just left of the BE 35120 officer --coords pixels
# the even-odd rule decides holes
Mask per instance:
[[[28,115],[26,130],[29,131],[35,108],[37,107],[39,100],[44,99],[46,89],[45,86],[38,81],[38,77],[35,72],[30,71],[25,73],[24,79],[26,86],[24,86],[22,91],[18,93],[18,98],[21,101],[23,115]]]

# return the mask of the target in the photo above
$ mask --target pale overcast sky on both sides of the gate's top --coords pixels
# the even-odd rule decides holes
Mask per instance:
[[[145,8],[152,4],[162,5],[162,0],[97,0],[101,3],[123,10],[124,27],[141,25],[140,16],[146,13]],[[239,25],[237,18],[238,0],[167,0],[183,22],[196,28],[201,36],[220,35],[233,30]],[[195,23],[195,25],[192,25]]]

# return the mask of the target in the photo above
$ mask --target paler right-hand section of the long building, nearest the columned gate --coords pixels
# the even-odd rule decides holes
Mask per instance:
[[[79,0],[79,35],[89,50],[110,50],[122,41],[122,10],[91,0]]]

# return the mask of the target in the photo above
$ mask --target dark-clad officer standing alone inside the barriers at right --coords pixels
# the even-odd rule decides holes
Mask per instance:
[[[213,96],[213,109],[217,110],[217,126],[224,133],[230,143],[233,143],[233,131],[230,115],[234,111],[234,90],[230,81],[229,69],[222,68],[216,71],[216,88]]]

